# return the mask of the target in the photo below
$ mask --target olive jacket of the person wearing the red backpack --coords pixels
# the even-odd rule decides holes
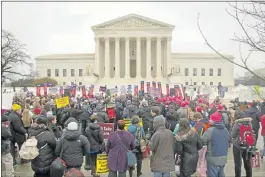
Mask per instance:
[[[240,118],[234,121],[234,126],[232,128],[232,133],[231,133],[231,137],[233,140],[233,145],[236,146],[237,148],[240,149],[240,145],[238,143],[239,141],[239,131],[240,131],[240,126],[242,125],[242,123],[249,123],[251,124],[252,118],[247,117],[247,118]]]

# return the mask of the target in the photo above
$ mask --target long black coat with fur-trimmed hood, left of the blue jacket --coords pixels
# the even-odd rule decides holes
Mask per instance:
[[[180,172],[190,176],[196,172],[199,159],[198,151],[202,148],[200,136],[190,130],[187,134],[176,136],[176,153],[181,156]]]

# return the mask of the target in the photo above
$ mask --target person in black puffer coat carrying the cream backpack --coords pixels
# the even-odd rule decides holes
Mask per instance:
[[[49,177],[50,165],[55,160],[56,140],[53,132],[48,127],[46,117],[37,119],[29,128],[29,137],[35,136],[38,140],[37,148],[39,155],[31,161],[31,169],[35,172],[34,177]]]

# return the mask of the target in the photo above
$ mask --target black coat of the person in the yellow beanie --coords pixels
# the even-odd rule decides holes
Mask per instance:
[[[16,112],[12,112],[10,118],[10,131],[13,137],[13,141],[22,144],[26,141],[25,134],[27,130],[24,128],[21,115]]]

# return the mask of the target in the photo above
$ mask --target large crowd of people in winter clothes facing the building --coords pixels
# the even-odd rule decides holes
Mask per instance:
[[[127,171],[130,177],[134,171],[140,177],[144,176],[143,154],[148,152],[154,177],[170,177],[176,166],[178,176],[190,177],[198,172],[199,151],[207,147],[207,176],[223,177],[232,146],[235,176],[241,177],[243,159],[246,176],[252,177],[251,158],[257,151],[260,124],[264,140],[261,158],[265,156],[265,113],[257,102],[242,110],[227,108],[219,98],[209,104],[199,96],[187,101],[127,94],[72,97],[67,107],[57,109],[56,98],[14,97],[12,110],[2,109],[2,176],[14,177],[15,165],[31,163],[34,177],[53,177],[52,163],[59,157],[65,163],[66,177],[84,176],[82,165],[99,177],[97,155],[106,153],[109,177],[125,177]],[[114,117],[108,115],[109,108],[114,109]],[[131,119],[126,130],[124,118]],[[115,131],[107,140],[98,123],[114,123]],[[38,154],[18,161],[18,152],[32,137],[37,140]]]

